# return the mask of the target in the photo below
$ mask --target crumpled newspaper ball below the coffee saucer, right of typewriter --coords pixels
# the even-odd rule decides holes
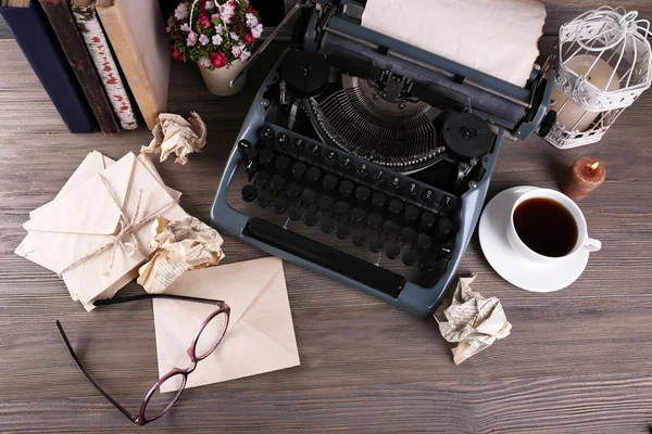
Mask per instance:
[[[452,348],[455,365],[478,354],[496,340],[506,337],[512,330],[498,297],[485,298],[472,291],[471,283],[475,278],[475,273],[460,278],[450,306],[439,306],[435,311],[443,339],[460,343]]]

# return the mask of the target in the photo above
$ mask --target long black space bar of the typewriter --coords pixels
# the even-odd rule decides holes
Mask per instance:
[[[397,298],[405,278],[260,218],[252,218],[244,233],[255,240],[343,275]]]

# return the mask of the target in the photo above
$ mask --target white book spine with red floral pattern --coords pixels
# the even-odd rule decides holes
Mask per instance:
[[[120,120],[120,126],[123,129],[134,130],[138,128],[136,115],[129,102],[129,97],[120,76],[117,66],[100,21],[98,20],[95,8],[90,7],[72,7],[73,15],[77,22],[79,33],[86,42],[90,59],[100,75],[106,95],[113,111]]]

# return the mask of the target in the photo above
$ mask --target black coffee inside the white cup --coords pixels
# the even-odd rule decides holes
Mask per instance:
[[[514,226],[521,241],[543,256],[565,256],[577,243],[578,229],[573,214],[552,199],[523,201],[514,209]]]

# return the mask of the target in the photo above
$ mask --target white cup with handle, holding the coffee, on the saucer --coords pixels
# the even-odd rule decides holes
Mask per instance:
[[[529,248],[521,240],[521,238],[518,237],[518,233],[516,233],[516,227],[514,226],[514,210],[523,202],[525,202],[529,199],[538,199],[538,197],[550,199],[550,200],[555,201],[556,203],[561,204],[566,209],[568,209],[568,212],[573,215],[575,222],[577,224],[577,242],[575,243],[575,246],[573,247],[573,250],[565,256],[551,257],[551,256],[541,255],[541,254],[532,251],[531,248]],[[514,206],[512,206],[512,210],[510,213],[510,221],[507,222],[507,240],[510,242],[510,245],[512,245],[512,248],[514,250],[514,252],[516,252],[516,254],[518,254],[529,260],[532,260],[535,263],[560,261],[560,260],[564,260],[573,255],[576,255],[578,252],[580,252],[582,250],[588,251],[588,252],[598,252],[602,247],[602,243],[600,243],[600,241],[589,238],[589,234],[587,232],[587,220],[585,219],[584,214],[581,214],[579,206],[577,206],[577,204],[575,202],[573,202],[567,195],[560,193],[559,191],[550,190],[550,189],[532,189],[532,190],[525,191],[524,193],[521,194],[521,196],[514,203]]]

